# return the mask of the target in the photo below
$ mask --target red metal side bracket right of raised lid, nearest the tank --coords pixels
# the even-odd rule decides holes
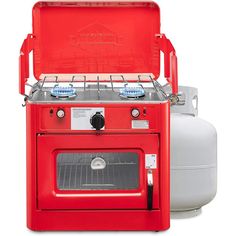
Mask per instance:
[[[172,94],[178,94],[178,61],[175,48],[164,34],[158,35],[160,50],[164,53],[164,76],[172,87]]]

